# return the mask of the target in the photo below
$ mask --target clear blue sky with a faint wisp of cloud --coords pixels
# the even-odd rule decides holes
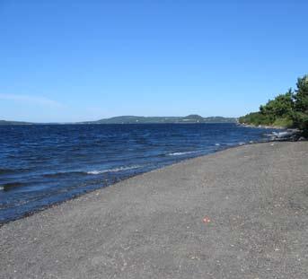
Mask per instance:
[[[0,119],[241,116],[307,74],[307,11],[307,0],[0,0]]]

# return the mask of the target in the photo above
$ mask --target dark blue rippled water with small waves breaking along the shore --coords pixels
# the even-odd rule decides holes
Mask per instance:
[[[268,133],[235,124],[0,126],[0,222]]]

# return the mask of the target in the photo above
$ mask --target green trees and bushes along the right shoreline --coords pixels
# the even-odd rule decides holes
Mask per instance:
[[[296,89],[289,89],[261,105],[258,112],[251,112],[242,118],[240,123],[265,126],[294,127],[308,135],[308,75],[298,78]]]

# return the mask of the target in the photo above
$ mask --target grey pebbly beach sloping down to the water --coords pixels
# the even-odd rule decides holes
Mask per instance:
[[[0,228],[0,278],[308,278],[308,142],[244,145]]]

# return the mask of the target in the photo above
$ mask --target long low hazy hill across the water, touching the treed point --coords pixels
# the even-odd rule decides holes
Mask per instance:
[[[146,124],[146,123],[236,123],[236,118],[210,117],[203,118],[199,115],[187,117],[136,117],[122,116],[105,118],[97,121],[83,122],[84,124]]]

